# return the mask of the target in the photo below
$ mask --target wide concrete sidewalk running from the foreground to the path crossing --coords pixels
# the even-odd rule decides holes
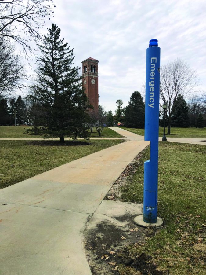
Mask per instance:
[[[82,243],[85,224],[149,144],[125,132],[130,141],[0,190],[0,274],[91,274]]]

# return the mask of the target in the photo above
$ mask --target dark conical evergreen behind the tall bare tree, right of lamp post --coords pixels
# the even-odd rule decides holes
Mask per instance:
[[[188,105],[181,94],[177,96],[173,106],[173,114],[171,117],[171,126],[173,127],[188,127],[190,126]]]

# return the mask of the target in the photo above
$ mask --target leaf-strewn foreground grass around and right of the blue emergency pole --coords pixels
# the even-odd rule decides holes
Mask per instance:
[[[138,171],[122,188],[123,200],[143,203],[143,162],[148,159],[149,148]],[[170,275],[206,274],[205,163],[204,145],[159,143],[158,216],[164,226],[151,229],[145,244],[131,245],[132,258],[150,255],[150,261]],[[140,274],[124,266],[119,273]]]

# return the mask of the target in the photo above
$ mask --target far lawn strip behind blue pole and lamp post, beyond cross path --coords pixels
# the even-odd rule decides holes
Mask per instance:
[[[126,128],[122,127],[127,131],[138,134],[140,136],[144,136],[144,129],[136,129],[136,128]],[[167,133],[167,128],[165,129]],[[159,137],[163,136],[163,127],[159,127]],[[206,127],[203,129],[195,128],[195,127],[187,127],[187,128],[176,128],[171,127],[171,134],[166,135],[169,138],[206,138]]]

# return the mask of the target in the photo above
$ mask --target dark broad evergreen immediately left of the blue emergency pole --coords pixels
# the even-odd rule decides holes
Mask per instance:
[[[141,94],[134,91],[125,108],[125,126],[131,128],[144,128],[145,104]]]

